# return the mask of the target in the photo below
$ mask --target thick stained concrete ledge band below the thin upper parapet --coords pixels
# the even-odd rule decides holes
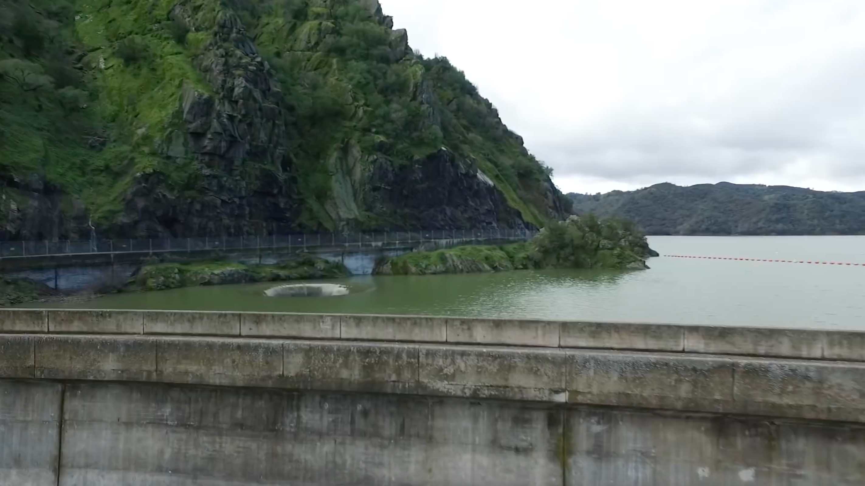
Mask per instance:
[[[865,423],[865,363],[211,336],[0,335],[0,378],[150,381]]]

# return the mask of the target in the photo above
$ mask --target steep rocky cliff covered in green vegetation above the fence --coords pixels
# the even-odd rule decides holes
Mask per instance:
[[[522,138],[375,0],[0,0],[0,238],[538,227]]]

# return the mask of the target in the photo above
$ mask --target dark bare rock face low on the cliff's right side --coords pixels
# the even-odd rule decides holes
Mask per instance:
[[[367,210],[426,229],[527,229],[519,211],[477,169],[446,149],[416,164],[381,161],[369,175]]]

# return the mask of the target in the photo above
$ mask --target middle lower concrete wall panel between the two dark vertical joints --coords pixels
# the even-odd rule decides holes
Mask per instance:
[[[560,486],[561,414],[394,395],[68,385],[61,484]]]

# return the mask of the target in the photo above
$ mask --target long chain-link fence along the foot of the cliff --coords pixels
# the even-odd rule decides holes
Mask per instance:
[[[92,253],[181,253],[268,248],[374,248],[413,246],[425,241],[453,243],[529,240],[535,232],[513,229],[431,230],[379,233],[300,233],[266,236],[155,238],[138,240],[0,241],[0,259]]]

